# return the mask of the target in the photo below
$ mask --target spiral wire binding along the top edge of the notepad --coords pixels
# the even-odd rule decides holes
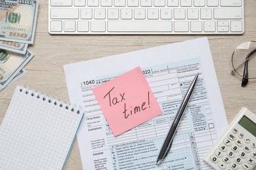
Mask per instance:
[[[32,97],[37,97],[37,99],[43,99],[43,101],[48,101],[49,103],[53,103],[53,105],[63,107],[65,109],[70,109],[72,112],[76,112],[80,114],[81,106],[77,107],[76,105],[71,105],[70,102],[65,103],[64,100],[59,101],[58,98],[55,98],[51,95],[42,94],[40,91],[32,90],[30,87],[20,86],[20,92],[24,92]]]

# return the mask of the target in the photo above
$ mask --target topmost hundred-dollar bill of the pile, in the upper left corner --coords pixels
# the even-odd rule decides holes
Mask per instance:
[[[33,44],[38,1],[0,1],[0,40]]]

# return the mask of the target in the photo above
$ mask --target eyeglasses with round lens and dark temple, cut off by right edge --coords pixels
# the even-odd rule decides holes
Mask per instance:
[[[235,73],[242,77],[242,87],[249,79],[256,78],[256,41],[247,41],[238,45],[232,54],[232,75]]]

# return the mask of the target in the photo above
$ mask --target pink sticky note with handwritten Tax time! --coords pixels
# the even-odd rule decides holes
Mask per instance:
[[[161,114],[140,67],[93,88],[115,136]]]

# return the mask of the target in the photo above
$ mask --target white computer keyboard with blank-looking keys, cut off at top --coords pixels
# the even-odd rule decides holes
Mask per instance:
[[[244,0],[49,0],[51,34],[242,34]]]

